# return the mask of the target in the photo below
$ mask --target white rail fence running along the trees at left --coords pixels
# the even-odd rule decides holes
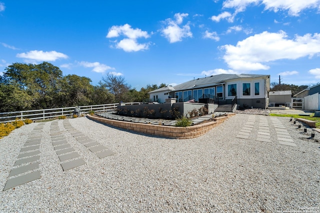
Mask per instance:
[[[135,105],[140,104],[139,102],[132,103],[121,103],[121,105]],[[90,111],[94,112],[107,112],[113,111],[118,106],[118,103],[114,104],[101,104],[101,105],[90,105],[90,106],[78,106],[79,114],[88,113]],[[74,109],[76,107],[64,107],[64,108],[54,108],[54,109],[38,109],[38,110],[26,110],[26,111],[16,111],[16,112],[1,112],[0,113],[0,123],[12,122],[15,119],[48,119],[55,118],[59,116],[70,116],[73,115]]]

